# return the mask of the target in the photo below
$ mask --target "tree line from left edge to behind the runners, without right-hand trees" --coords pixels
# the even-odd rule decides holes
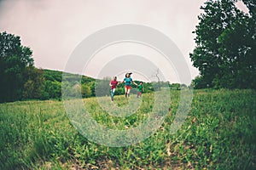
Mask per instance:
[[[34,66],[32,50],[21,45],[20,37],[7,32],[0,33],[0,102],[22,99],[61,99],[61,87],[72,96],[81,92],[83,98],[96,96],[96,90],[104,88],[103,94],[109,94],[110,78],[96,80],[91,77],[65,73],[71,81],[62,82],[62,71],[38,69]],[[138,81],[135,81],[138,83]],[[165,82],[160,82],[165,83]],[[107,88],[106,88],[107,86]],[[116,89],[116,95],[125,94],[124,84]],[[145,93],[157,88],[151,82],[143,84]],[[177,84],[170,87],[178,89]],[[133,87],[134,90],[136,87]]]

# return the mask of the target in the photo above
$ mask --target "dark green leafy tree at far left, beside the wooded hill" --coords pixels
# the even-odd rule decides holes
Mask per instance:
[[[0,33],[0,102],[21,98],[24,73],[32,65],[32,50],[21,45],[20,37]]]

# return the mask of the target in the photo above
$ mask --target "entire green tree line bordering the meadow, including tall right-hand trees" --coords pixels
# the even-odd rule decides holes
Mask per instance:
[[[249,9],[245,14],[236,8],[236,0],[208,0],[201,9],[195,27],[195,49],[189,54],[200,76],[191,83],[194,88],[256,88],[256,3],[242,0]],[[99,84],[108,79],[95,80],[82,76],[81,80],[61,82],[63,72],[35,68],[32,49],[20,42],[20,37],[6,31],[0,33],[0,102],[20,99],[61,99],[61,85],[70,93],[81,92],[82,97],[96,96]],[[73,74],[69,74],[73,78]],[[105,82],[104,82],[105,81]],[[171,89],[186,85],[169,82]],[[116,94],[124,94],[124,84]],[[160,87],[160,86],[159,86]],[[136,87],[134,87],[136,88]],[[144,83],[145,92],[157,90],[154,82]],[[104,94],[105,93],[105,94]],[[108,94],[108,90],[103,94]]]

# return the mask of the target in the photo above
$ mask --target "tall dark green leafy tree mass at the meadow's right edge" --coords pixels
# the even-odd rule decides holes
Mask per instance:
[[[201,88],[255,88],[255,20],[235,0],[208,0],[195,28],[190,58],[201,73]],[[253,1],[245,1],[251,10]],[[254,8],[255,9],[255,8]],[[202,87],[203,86],[203,87]],[[195,87],[198,88],[198,87]]]

